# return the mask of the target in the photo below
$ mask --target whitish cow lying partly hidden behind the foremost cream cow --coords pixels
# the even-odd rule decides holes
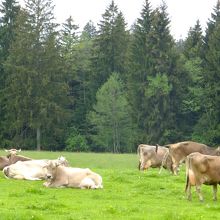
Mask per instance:
[[[3,169],[3,173],[6,178],[43,180],[46,176],[46,170],[44,169],[44,166],[46,166],[47,161],[47,159],[18,161],[15,164],[6,166]],[[59,157],[54,161],[58,161],[60,164],[68,166],[68,162],[64,157]]]

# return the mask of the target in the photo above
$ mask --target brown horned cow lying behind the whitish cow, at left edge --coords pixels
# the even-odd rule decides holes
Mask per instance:
[[[5,150],[8,155],[0,157],[0,170],[3,170],[4,167],[16,163],[17,161],[26,161],[31,160],[31,158],[18,155],[17,153],[21,151],[16,149]]]

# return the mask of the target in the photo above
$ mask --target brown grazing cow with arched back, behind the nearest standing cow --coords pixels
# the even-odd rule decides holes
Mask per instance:
[[[172,170],[175,175],[178,174],[180,163],[184,162],[186,157],[193,152],[200,152],[207,155],[220,155],[219,148],[208,147],[205,144],[193,141],[184,141],[175,144],[169,144],[165,147],[169,148],[172,159]]]

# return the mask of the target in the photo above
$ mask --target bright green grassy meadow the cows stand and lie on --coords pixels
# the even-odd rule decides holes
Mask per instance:
[[[0,151],[1,155],[5,155]],[[166,170],[137,170],[137,155],[68,152],[22,153],[36,159],[63,155],[71,166],[89,167],[103,177],[104,189],[48,189],[43,181],[6,179],[0,173],[1,220],[76,219],[220,219],[219,201],[212,201],[212,187],[203,186],[205,201],[193,189],[185,198],[185,172],[172,176]]]

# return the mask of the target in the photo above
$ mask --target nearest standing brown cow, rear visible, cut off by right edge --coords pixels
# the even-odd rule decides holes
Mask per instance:
[[[186,188],[188,200],[191,200],[191,186],[196,187],[199,200],[203,201],[201,185],[213,185],[213,199],[217,200],[217,184],[220,184],[220,157],[191,153],[186,158]]]

